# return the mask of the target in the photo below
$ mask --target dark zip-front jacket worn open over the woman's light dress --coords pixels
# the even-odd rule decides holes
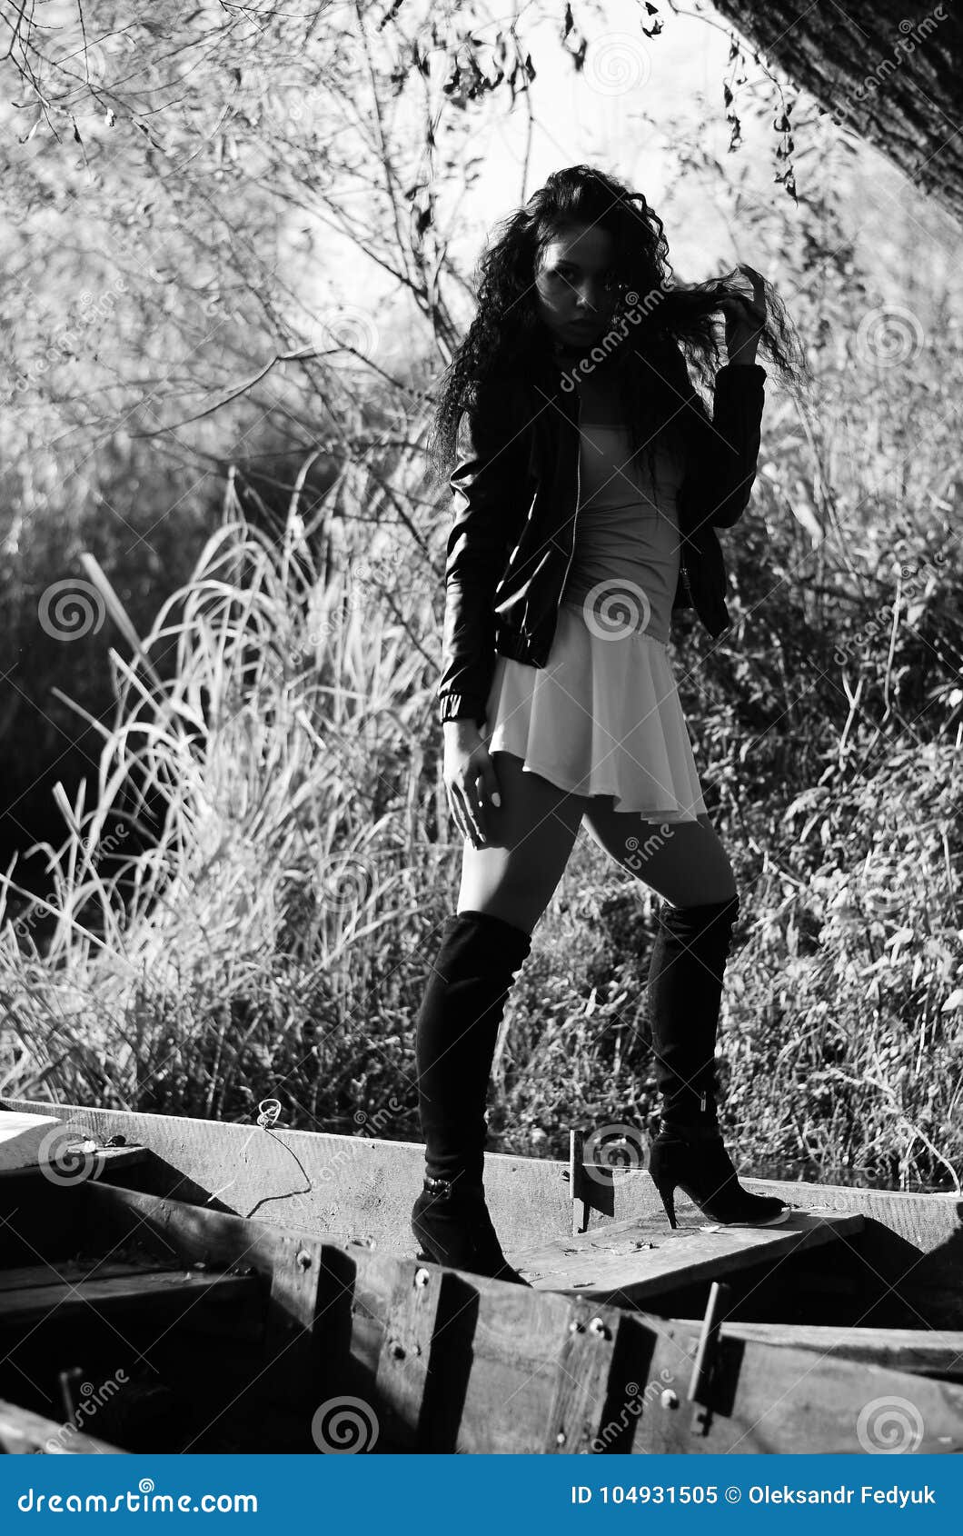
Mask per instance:
[[[693,607],[716,637],[731,619],[714,528],[731,528],[750,501],[766,372],[757,362],[720,367],[710,421],[674,343],[660,346],[653,366],[679,396],[687,442],[673,611]],[[488,381],[461,416],[448,479],[441,720],[484,725],[496,656],[530,667],[548,659],[574,548],[579,392],[562,387],[571,376],[550,364],[531,381]]]

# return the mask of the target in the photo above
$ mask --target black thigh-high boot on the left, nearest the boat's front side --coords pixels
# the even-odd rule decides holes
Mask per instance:
[[[442,923],[415,1035],[425,1181],[412,1210],[419,1258],[527,1284],[505,1260],[484,1195],[485,1097],[498,1026],[531,935],[490,912]]]

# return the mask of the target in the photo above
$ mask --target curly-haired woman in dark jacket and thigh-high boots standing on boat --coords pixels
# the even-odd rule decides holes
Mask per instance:
[[[756,475],[756,347],[789,379],[802,366],[757,273],[745,269],[751,300],[739,269],[679,289],[667,258],[640,194],[588,166],[551,175],[482,258],[432,429],[435,465],[456,461],[438,696],[465,845],[416,1025],[425,1183],[412,1230],[421,1258],[521,1284],[484,1198],[485,1095],[508,988],[582,820],[664,899],[650,1172],[670,1223],[676,1187],[711,1221],[786,1215],[739,1184],[719,1134],[716,1031],[739,895],[667,642],[677,607],[713,636],[730,622],[714,525],[736,522]],[[702,369],[717,361],[719,312],[728,362],[710,419],[679,343]]]

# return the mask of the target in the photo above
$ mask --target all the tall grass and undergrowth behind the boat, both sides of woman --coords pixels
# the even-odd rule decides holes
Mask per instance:
[[[797,530],[780,544],[766,495],[769,567],[788,565]],[[295,493],[275,539],[229,484],[143,637],[88,561],[123,637],[117,708],[92,805],[60,791],[48,892],[14,917],[15,871],[0,882],[5,1094],[227,1118],[276,1097],[287,1124],[418,1137],[412,1025],[461,843],[441,550],[398,527],[372,542],[330,502],[306,527]],[[920,684],[937,645],[963,647],[958,562],[929,562],[880,636],[871,547],[857,604],[797,590],[750,622],[757,556],[751,533],[730,545],[733,650],[693,631],[679,668],[742,894],[726,1124],[746,1160],[958,1189],[958,700],[945,662]],[[564,1155],[570,1124],[650,1120],[653,923],[650,889],[582,837],[511,994],[493,1146]]]

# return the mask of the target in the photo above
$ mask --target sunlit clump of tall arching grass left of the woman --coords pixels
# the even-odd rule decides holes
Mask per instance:
[[[134,654],[111,653],[95,805],[60,791],[49,891],[2,929],[5,1089],[206,1115],[270,1089],[352,1124],[356,1080],[404,1087],[390,1000],[452,879],[429,837],[425,659],[375,588],[323,581],[329,542],[296,502],[280,544],[230,490],[226,510],[143,639],[88,561]],[[8,874],[0,912],[17,891]]]

